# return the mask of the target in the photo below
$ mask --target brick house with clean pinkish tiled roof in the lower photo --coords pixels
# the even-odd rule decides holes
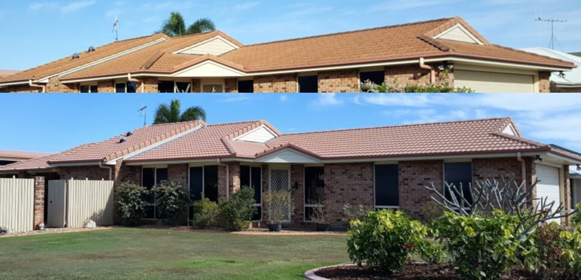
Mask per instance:
[[[292,225],[309,223],[315,201],[404,209],[421,217],[433,182],[514,177],[535,195],[570,207],[569,165],[581,156],[521,137],[510,118],[281,134],[267,121],[150,125],[99,143],[0,167],[3,177],[180,181],[193,198],[228,198],[241,186],[289,190]],[[339,207],[340,208],[340,207]],[[261,220],[261,211],[254,218]],[[336,222],[342,210],[333,213]],[[155,219],[154,207],[144,218]]]

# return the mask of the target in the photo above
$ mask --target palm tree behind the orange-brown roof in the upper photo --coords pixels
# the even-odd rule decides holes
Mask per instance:
[[[216,30],[216,25],[207,18],[198,19],[186,28],[184,16],[180,12],[171,12],[170,17],[163,21],[162,29],[155,33],[164,33],[170,37],[180,37],[214,30]]]

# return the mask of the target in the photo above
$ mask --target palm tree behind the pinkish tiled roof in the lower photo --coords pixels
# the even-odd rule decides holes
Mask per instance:
[[[206,111],[200,106],[189,107],[183,113],[180,113],[180,100],[171,99],[168,106],[166,103],[160,104],[155,111],[155,120],[153,124],[178,123],[180,121],[206,121]]]

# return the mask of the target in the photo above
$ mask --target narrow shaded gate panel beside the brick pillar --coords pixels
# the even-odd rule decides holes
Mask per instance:
[[[48,181],[48,205],[46,205],[46,227],[64,228],[66,225],[66,180]]]

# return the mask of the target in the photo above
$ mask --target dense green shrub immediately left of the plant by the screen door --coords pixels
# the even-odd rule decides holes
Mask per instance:
[[[218,220],[220,225],[231,231],[239,231],[248,228],[252,222],[252,216],[256,213],[254,204],[254,188],[242,186],[229,199],[221,198],[218,201]]]

